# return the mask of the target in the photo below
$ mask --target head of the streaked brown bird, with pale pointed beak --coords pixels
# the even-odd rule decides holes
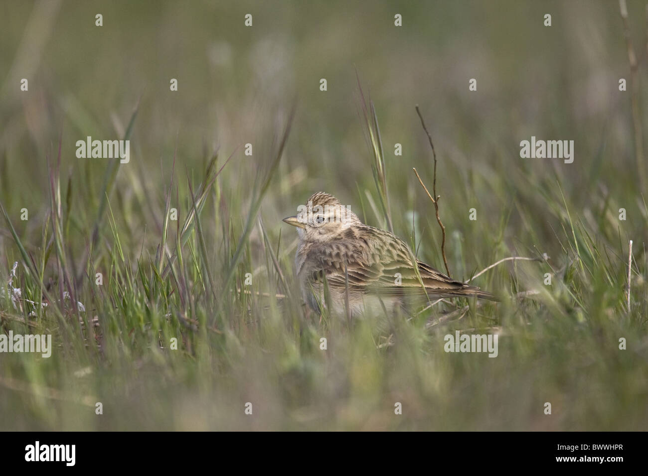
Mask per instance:
[[[299,238],[307,242],[329,241],[352,225],[362,223],[348,205],[342,205],[325,192],[312,194],[306,205],[297,207],[297,214],[284,218],[297,227]]]

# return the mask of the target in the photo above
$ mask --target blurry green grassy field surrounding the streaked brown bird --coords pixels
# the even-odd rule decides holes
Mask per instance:
[[[0,354],[0,429],[645,429],[648,198],[618,5],[502,3],[3,3],[0,277],[21,295],[0,291],[0,334],[53,349]],[[305,315],[281,218],[318,190],[379,227],[386,198],[444,269],[415,104],[453,277],[537,260],[474,280],[498,304]],[[521,159],[531,135],[575,160]],[[77,159],[87,136],[130,139],[130,163]],[[446,353],[455,330],[498,333],[498,357]]]

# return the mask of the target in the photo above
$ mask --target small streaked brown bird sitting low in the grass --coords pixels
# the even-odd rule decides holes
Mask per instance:
[[[283,221],[297,227],[297,279],[303,298],[316,312],[325,306],[325,289],[333,312],[344,314],[348,305],[351,315],[395,312],[407,297],[498,300],[416,260],[398,236],[365,225],[332,195],[313,194],[298,211]]]

